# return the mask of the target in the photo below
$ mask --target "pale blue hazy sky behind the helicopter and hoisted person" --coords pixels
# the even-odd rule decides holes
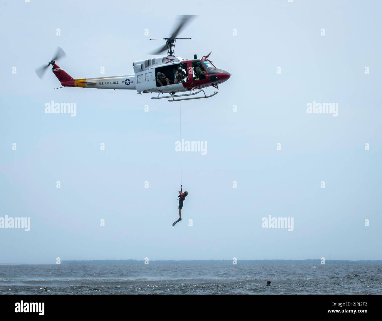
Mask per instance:
[[[30,230],[0,228],[0,263],[382,259],[381,9],[1,0],[0,218],[28,217]],[[74,78],[133,74],[178,14],[197,17],[176,56],[212,51],[231,73],[212,98],[55,90],[50,68],[43,80],[34,72],[60,46],[57,64]],[[76,116],[45,113],[52,100],[76,103]],[[314,101],[337,116],[308,113]],[[180,126],[204,155],[175,150]],[[173,227],[180,184],[189,195]],[[293,230],[264,228],[269,215]]]

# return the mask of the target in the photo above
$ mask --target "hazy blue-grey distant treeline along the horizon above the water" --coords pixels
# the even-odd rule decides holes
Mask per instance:
[[[108,264],[108,265],[132,265],[144,264],[144,260],[91,260],[91,261],[61,261],[61,264]],[[232,264],[232,260],[150,260],[150,264]],[[321,264],[321,260],[237,260],[238,264]],[[382,264],[382,260],[364,260],[364,261],[349,261],[349,260],[325,260],[325,264]]]

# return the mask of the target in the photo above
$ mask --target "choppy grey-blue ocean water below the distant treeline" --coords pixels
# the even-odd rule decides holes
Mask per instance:
[[[0,265],[0,294],[382,294],[382,265]]]

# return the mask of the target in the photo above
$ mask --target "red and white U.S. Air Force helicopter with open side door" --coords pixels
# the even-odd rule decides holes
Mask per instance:
[[[180,16],[180,21],[170,37],[151,38],[150,40],[165,40],[166,42],[165,45],[152,52],[151,55],[159,55],[167,50],[167,56],[135,61],[133,63],[134,74],[74,79],[56,63],[58,59],[66,56],[60,47],[57,48],[55,56],[47,65],[35,69],[36,74],[42,79],[47,68],[52,66],[53,74],[60,80],[62,85],[62,87],[58,88],[128,89],[136,90],[140,95],[142,93],[158,93],[158,96],[151,99],[170,98],[168,101],[210,98],[215,96],[218,91],[206,95],[204,88],[214,87],[218,89],[218,85],[227,81],[231,74],[223,69],[218,69],[208,59],[212,51],[207,56],[203,56],[202,59],[197,59],[197,55],[194,55],[194,59],[183,59],[175,56],[173,48],[175,49],[176,40],[191,39],[176,37],[191,18],[193,18],[193,15]],[[183,72],[183,74],[176,77],[177,71],[178,73]],[[163,75],[165,75],[165,78]],[[158,77],[163,77],[164,83]],[[200,96],[191,97],[201,92]]]

